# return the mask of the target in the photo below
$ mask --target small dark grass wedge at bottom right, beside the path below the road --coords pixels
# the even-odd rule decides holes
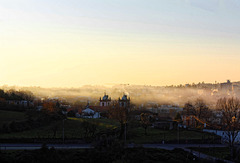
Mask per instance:
[[[192,149],[194,151],[199,151],[201,153],[210,155],[210,156],[214,156],[217,158],[221,158],[221,159],[227,159],[230,156],[230,150],[228,147],[215,147],[215,148],[196,148],[196,147],[192,147],[189,148]]]

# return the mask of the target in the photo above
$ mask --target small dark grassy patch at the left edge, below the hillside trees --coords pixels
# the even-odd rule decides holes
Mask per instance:
[[[22,121],[24,119],[25,119],[24,112],[0,110],[0,127],[4,123],[9,123],[11,121]]]

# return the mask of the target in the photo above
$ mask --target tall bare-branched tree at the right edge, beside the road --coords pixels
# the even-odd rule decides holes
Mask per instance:
[[[228,137],[228,144],[233,158],[234,144],[240,130],[240,101],[233,97],[220,98],[216,107],[222,111],[222,125]]]

